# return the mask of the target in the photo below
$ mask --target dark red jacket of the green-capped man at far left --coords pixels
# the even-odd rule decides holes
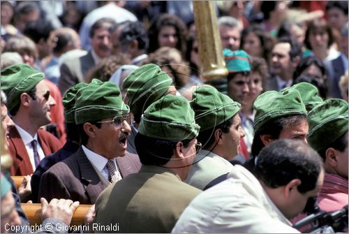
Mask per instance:
[[[56,152],[62,147],[62,143],[57,138],[41,129],[38,129],[38,142],[45,156]],[[34,173],[27,149],[15,127],[11,128],[8,133],[8,151],[13,159],[13,164],[10,168],[11,175],[31,175]]]

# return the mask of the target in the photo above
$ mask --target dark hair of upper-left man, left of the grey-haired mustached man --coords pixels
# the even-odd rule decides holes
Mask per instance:
[[[52,26],[51,22],[40,19],[33,22],[28,22],[23,29],[23,34],[31,38],[34,43],[38,44],[41,39],[46,42],[51,31],[54,31],[54,27]]]

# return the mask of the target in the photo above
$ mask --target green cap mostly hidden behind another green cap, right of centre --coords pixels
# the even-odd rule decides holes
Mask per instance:
[[[306,106],[306,110],[308,112],[315,108],[316,105],[323,102],[322,98],[318,96],[318,88],[314,85],[311,85],[311,83],[301,82],[299,84],[292,85],[292,87],[285,87],[285,89],[282,89],[281,92],[288,89],[298,90],[299,94],[301,94],[302,101]]]

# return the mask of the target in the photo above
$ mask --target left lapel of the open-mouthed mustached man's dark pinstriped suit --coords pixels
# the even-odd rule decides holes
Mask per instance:
[[[91,200],[91,204],[94,204],[99,193],[105,189],[105,185],[101,182],[96,170],[94,170],[94,167],[89,159],[87,159],[87,156],[84,154],[81,147],[77,155],[77,163],[80,167],[81,179],[87,184],[86,192]]]

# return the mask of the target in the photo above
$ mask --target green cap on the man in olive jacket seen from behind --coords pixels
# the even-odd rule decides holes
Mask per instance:
[[[194,111],[186,98],[165,95],[149,105],[140,120],[138,132],[163,140],[190,140],[198,136]]]

